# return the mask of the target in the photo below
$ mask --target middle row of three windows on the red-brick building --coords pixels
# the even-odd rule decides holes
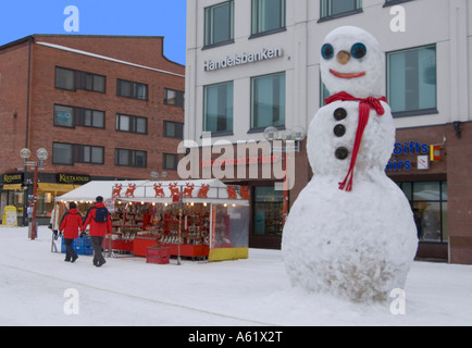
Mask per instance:
[[[104,128],[104,111],[85,108],[54,105],[54,126]],[[148,134],[148,119],[135,115],[116,114],[115,129],[137,134]],[[183,139],[182,122],[164,121],[164,137]]]

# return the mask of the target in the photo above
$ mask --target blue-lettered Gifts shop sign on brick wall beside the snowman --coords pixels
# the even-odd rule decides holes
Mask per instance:
[[[419,141],[405,141],[405,142],[396,142],[394,147],[394,157],[390,159],[386,166],[386,171],[411,171],[413,169],[413,164],[408,159],[398,159],[397,156],[417,156],[418,169],[419,170],[428,170],[430,166],[424,163],[423,156],[427,157],[430,152],[430,146],[427,144],[421,144]],[[420,164],[420,161],[422,162]]]

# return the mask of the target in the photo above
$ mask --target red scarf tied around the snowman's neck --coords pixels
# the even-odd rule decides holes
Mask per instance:
[[[330,104],[334,101],[359,101],[359,125],[358,130],[356,133],[356,140],[355,146],[352,149],[352,157],[350,160],[349,171],[346,175],[346,178],[343,183],[339,183],[339,189],[346,189],[346,191],[352,190],[352,176],[353,176],[353,167],[356,165],[356,160],[358,157],[359,148],[362,140],[362,135],[364,133],[365,126],[369,122],[369,114],[371,112],[371,109],[374,109],[377,113],[377,115],[382,116],[385,113],[384,108],[382,107],[381,100],[387,102],[387,99],[385,97],[382,98],[374,98],[374,97],[368,97],[368,98],[356,98],[351,95],[341,91],[336,95],[333,95],[324,100],[326,104]]]

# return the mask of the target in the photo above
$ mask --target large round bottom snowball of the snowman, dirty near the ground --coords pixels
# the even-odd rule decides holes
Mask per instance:
[[[290,209],[282,251],[294,286],[359,302],[382,302],[405,288],[417,228],[403,192],[383,173],[356,182],[314,177]]]

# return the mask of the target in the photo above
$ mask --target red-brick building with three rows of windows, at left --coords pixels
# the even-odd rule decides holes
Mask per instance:
[[[49,152],[42,217],[55,196],[88,181],[177,178],[184,76],[163,55],[163,37],[32,35],[0,47],[2,210],[16,206],[22,220],[33,192],[23,148],[29,160]]]

